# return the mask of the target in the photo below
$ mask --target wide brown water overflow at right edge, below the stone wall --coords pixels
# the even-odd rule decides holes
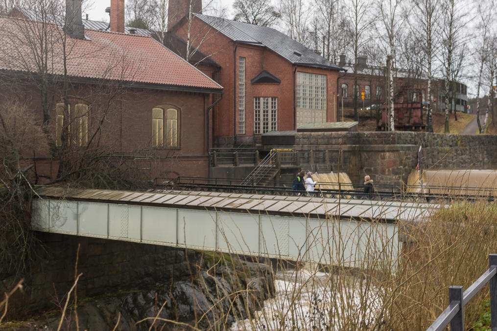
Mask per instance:
[[[408,185],[409,192],[426,191],[422,187],[427,186],[435,194],[497,196],[497,170],[423,170],[422,176],[413,170]]]

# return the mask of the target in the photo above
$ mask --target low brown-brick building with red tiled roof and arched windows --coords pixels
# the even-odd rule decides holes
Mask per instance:
[[[81,8],[81,1],[73,2]],[[111,12],[118,15],[111,15],[110,27],[123,32],[124,6],[115,9],[118,2],[124,1],[112,1]],[[47,126],[47,144],[56,150],[68,147],[81,155],[112,151],[134,164],[142,179],[206,177],[207,114],[222,95],[221,85],[150,36],[84,29],[81,9],[75,17],[67,29],[66,56],[59,52],[63,38],[49,56],[47,72],[54,78],[47,91],[48,112],[43,110],[47,102],[40,96],[36,62],[26,57],[32,46],[26,31],[48,26],[52,36],[64,34],[56,24],[0,18],[2,98],[25,103],[35,121]],[[64,84],[67,102],[61,92]],[[58,160],[49,150],[40,148],[34,157],[38,175],[53,179]]]

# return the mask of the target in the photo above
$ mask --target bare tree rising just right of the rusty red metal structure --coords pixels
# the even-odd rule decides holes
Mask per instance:
[[[424,53],[426,54],[426,78],[428,87],[428,97],[427,97],[427,131],[433,132],[432,123],[432,107],[431,103],[433,101],[433,56],[435,52],[434,45],[436,44],[436,37],[433,31],[433,27],[436,26],[440,18],[440,5],[438,0],[414,0],[415,9],[414,17],[416,18],[416,27],[419,27],[423,31],[424,37]]]

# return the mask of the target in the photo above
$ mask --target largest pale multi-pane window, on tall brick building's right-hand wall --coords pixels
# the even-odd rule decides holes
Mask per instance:
[[[297,126],[326,122],[326,75],[297,72]]]

